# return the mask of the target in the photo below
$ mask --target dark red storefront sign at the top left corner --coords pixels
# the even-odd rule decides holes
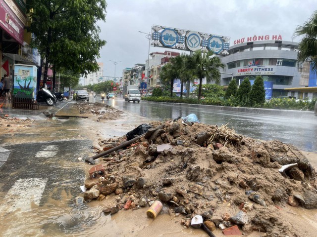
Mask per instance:
[[[0,27],[14,40],[23,45],[24,24],[3,0],[0,0]]]

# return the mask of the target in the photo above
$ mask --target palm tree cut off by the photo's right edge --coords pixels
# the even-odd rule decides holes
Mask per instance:
[[[313,71],[317,72],[317,11],[302,26],[297,26],[295,36],[302,36],[297,55],[298,64],[311,62]]]

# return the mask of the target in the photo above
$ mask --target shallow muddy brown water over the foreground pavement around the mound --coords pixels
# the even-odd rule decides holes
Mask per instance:
[[[129,122],[127,117],[131,118]],[[149,119],[127,112],[115,121],[44,119],[31,127],[0,128],[0,146],[15,155],[0,167],[0,236],[207,236],[201,230],[183,228],[182,217],[170,216],[166,208],[152,220],[147,218],[146,208],[105,215],[102,210],[113,196],[80,206],[74,204],[75,197],[83,196],[79,186],[91,167],[80,158],[93,154],[91,147],[98,146],[99,138],[121,136],[145,122]],[[26,151],[28,147],[30,151]],[[291,211],[294,218],[317,231],[316,211],[287,208],[285,212]],[[223,236],[219,230],[214,234]]]

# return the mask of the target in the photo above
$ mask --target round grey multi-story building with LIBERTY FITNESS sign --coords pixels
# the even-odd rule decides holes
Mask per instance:
[[[262,76],[264,82],[271,81],[273,84],[272,97],[313,97],[313,94],[303,94],[299,90],[288,91],[289,88],[308,86],[310,77],[310,67],[297,64],[297,42],[249,41],[231,46],[228,53],[221,58],[226,66],[221,85],[228,85],[232,78],[239,84],[246,77],[254,80]]]

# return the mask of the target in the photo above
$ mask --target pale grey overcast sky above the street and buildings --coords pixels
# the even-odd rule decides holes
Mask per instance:
[[[122,76],[124,68],[148,59],[152,25],[210,33],[231,38],[281,35],[293,39],[317,10],[316,0],[106,0],[106,22],[99,22],[100,37],[106,40],[98,62],[104,63],[104,76]],[[168,50],[150,47],[151,52]],[[110,61],[111,60],[111,61]],[[119,62],[120,61],[120,62]]]

